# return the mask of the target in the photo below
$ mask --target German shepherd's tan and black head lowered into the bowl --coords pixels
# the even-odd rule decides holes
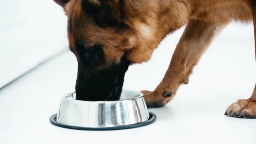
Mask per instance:
[[[157,45],[149,25],[138,20],[129,0],[54,1],[68,16],[69,47],[78,61],[77,99],[118,100],[129,65],[147,61]]]

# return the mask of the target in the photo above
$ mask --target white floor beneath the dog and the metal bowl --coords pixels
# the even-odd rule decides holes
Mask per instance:
[[[131,66],[125,89],[153,90],[163,78],[182,29],[168,36],[152,60]],[[256,82],[253,27],[232,24],[214,40],[166,107],[149,109],[152,125],[119,131],[78,131],[49,123],[61,95],[74,91],[77,62],[71,53],[35,69],[0,91],[1,144],[256,144],[256,120],[224,116]]]

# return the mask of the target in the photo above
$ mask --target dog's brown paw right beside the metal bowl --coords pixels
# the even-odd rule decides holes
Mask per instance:
[[[171,101],[170,94],[161,94],[156,91],[141,91],[144,94],[144,98],[147,104],[147,108],[163,107],[169,101]],[[165,95],[165,96],[164,96]]]

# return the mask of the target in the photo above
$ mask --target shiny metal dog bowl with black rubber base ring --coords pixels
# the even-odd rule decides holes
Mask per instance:
[[[119,101],[80,101],[75,93],[61,98],[58,114],[50,122],[64,128],[81,130],[116,130],[136,128],[155,121],[148,112],[144,95],[123,90]]]

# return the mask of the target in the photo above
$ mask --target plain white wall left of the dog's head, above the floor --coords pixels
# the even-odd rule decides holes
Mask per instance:
[[[0,88],[67,50],[67,17],[53,0],[1,0],[0,18]]]

